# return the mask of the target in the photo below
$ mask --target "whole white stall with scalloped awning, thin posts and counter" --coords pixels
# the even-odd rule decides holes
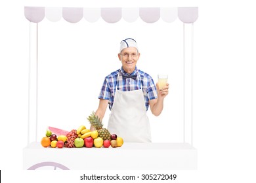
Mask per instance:
[[[81,8],[24,7],[30,21],[28,146],[23,150],[24,169],[196,169],[198,151],[193,144],[193,42],[194,22],[198,7],[170,8]],[[182,26],[182,142],[126,142],[121,148],[43,148],[38,139],[39,24],[65,20],[72,24],[83,21],[109,24],[125,21],[131,25],[140,18],[147,24],[160,20],[179,22]],[[85,19],[85,20],[82,20]],[[45,20],[44,20],[45,21]],[[102,31],[104,31],[102,29]],[[92,37],[94,35],[91,35]],[[72,63],[71,63],[72,64]],[[57,73],[58,71],[56,71]],[[43,86],[43,85],[42,85]],[[98,158],[101,157],[101,158]],[[104,157],[104,158],[102,158]],[[115,159],[115,161],[113,161]],[[100,163],[100,166],[98,166]],[[90,166],[85,166],[89,164]],[[109,166],[109,165],[112,166]]]

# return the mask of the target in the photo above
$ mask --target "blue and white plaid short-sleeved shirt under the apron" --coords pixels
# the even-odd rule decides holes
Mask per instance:
[[[154,84],[154,80],[152,79],[152,77],[147,73],[140,71],[139,69],[137,69],[137,67],[135,68],[135,71],[131,73],[131,75],[136,75],[137,71],[140,75],[141,80],[139,79],[139,75],[137,75],[136,80],[133,80],[133,78],[127,78],[124,80],[122,75],[127,75],[127,73],[125,73],[125,71],[123,70],[123,67],[121,69],[118,69],[117,71],[114,71],[110,75],[106,76],[98,98],[109,100],[108,104],[111,110],[114,103],[114,93],[116,93],[116,89],[123,92],[127,92],[127,91],[139,90],[142,86],[145,106],[146,106],[146,110],[148,110],[149,101],[152,99],[158,98],[156,86]],[[118,73],[119,73],[119,78],[117,82]]]

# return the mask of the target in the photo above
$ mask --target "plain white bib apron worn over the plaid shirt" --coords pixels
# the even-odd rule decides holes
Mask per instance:
[[[117,84],[118,77],[119,73]],[[108,130],[111,134],[115,133],[122,137],[125,142],[151,142],[150,124],[146,116],[142,86],[140,88],[123,92],[117,90],[116,86],[116,93],[114,93]]]

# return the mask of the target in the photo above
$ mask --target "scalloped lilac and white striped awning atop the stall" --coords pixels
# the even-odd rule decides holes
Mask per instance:
[[[127,22],[135,22],[139,17],[146,23],[158,20],[191,24],[198,19],[198,7],[170,8],[81,8],[81,7],[24,7],[26,18],[33,23],[39,23],[44,18],[57,22],[62,18],[70,23],[77,23],[83,18],[88,22],[96,22],[100,18],[108,23],[116,23],[123,18]]]

